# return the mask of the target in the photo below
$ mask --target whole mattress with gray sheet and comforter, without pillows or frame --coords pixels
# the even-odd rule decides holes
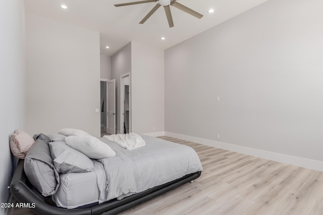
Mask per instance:
[[[93,172],[61,174],[60,186],[52,195],[53,201],[59,207],[71,209],[115,198],[119,200],[202,171],[200,160],[192,148],[141,136],[146,146],[131,151],[101,138],[117,155],[91,159]]]

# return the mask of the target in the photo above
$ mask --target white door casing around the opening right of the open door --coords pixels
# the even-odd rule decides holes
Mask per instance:
[[[124,102],[125,102],[125,82],[124,79],[129,77],[129,132],[132,132],[132,120],[131,120],[131,112],[132,112],[132,105],[131,105],[131,73],[126,73],[120,76],[120,123],[119,123],[119,132],[123,133],[124,130],[124,114],[125,114],[125,108],[124,108]]]

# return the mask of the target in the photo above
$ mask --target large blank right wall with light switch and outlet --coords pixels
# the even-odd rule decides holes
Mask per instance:
[[[271,0],[167,49],[165,130],[323,161],[322,8]]]

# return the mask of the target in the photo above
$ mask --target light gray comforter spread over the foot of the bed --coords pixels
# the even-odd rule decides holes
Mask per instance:
[[[117,154],[98,160],[106,174],[106,200],[122,199],[202,171],[201,162],[192,148],[156,137],[141,136],[146,146],[131,151],[101,138]]]

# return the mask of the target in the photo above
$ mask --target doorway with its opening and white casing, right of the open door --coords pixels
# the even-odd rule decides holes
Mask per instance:
[[[120,76],[120,133],[131,132],[131,75]]]

